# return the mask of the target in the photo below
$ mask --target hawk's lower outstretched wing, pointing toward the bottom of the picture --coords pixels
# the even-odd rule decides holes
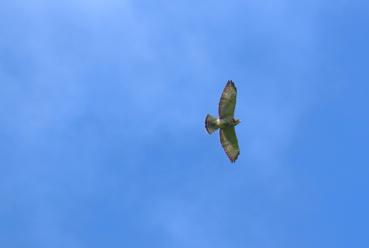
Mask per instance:
[[[234,127],[221,128],[219,132],[220,144],[231,162],[235,162],[239,155],[238,140]]]

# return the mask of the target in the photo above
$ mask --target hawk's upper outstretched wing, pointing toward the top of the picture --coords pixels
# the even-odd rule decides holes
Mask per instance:
[[[236,107],[237,88],[232,80],[228,80],[219,100],[219,118],[234,118],[234,108]]]

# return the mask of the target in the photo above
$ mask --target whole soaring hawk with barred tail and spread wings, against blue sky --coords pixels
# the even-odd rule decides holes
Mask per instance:
[[[236,107],[237,88],[232,80],[228,80],[219,100],[219,119],[208,114],[205,118],[205,128],[208,134],[212,134],[218,128],[220,144],[231,162],[235,162],[239,155],[238,140],[234,126],[241,121],[234,118]]]

